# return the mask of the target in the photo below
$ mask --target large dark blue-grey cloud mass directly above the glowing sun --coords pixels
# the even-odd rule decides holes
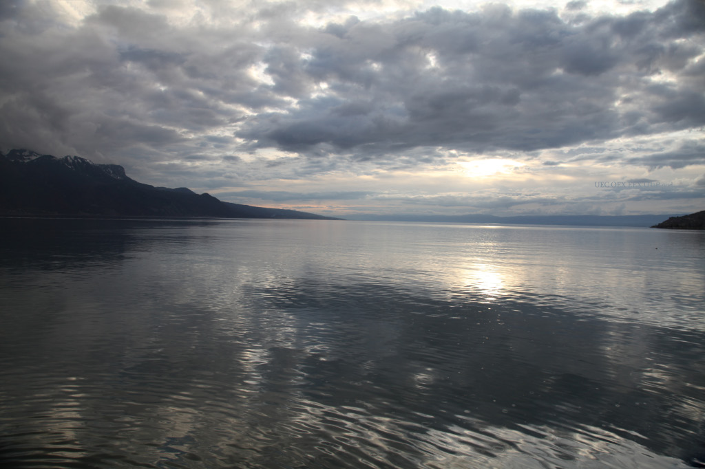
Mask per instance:
[[[288,46],[286,61],[283,53],[269,59],[274,89],[297,98],[297,107],[248,120],[240,135],[300,152],[321,144],[362,153],[439,145],[534,151],[703,125],[701,82],[687,79],[703,67],[689,63],[703,50],[693,17],[705,24],[697,2],[678,1],[579,27],[554,11],[502,6],[329,25],[309,37],[308,58],[297,61]],[[650,80],[663,73],[676,79]],[[312,80],[334,97],[302,98]],[[341,113],[361,96],[357,112]]]

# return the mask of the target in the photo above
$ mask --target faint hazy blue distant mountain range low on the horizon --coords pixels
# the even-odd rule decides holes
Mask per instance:
[[[423,223],[491,223],[498,225],[571,225],[649,227],[670,215],[345,215],[347,220]]]

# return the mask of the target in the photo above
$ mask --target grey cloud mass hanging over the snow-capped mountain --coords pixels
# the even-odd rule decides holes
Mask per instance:
[[[37,6],[23,10],[35,20],[45,13]],[[135,146],[173,151],[190,132],[242,119],[228,106],[230,94],[254,82],[236,65],[251,63],[259,48],[237,35],[223,47],[161,15],[117,6],[100,8],[75,29],[45,21],[43,30],[27,35],[23,24],[4,22],[0,38],[6,147],[129,159]]]

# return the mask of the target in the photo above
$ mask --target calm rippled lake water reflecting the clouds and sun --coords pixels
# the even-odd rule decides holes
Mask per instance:
[[[0,228],[1,467],[705,467],[705,232]]]

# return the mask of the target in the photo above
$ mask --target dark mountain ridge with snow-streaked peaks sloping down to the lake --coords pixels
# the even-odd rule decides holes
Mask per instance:
[[[331,220],[307,212],[230,204],[185,187],[154,187],[130,179],[120,165],[30,150],[0,154],[0,214]]]

